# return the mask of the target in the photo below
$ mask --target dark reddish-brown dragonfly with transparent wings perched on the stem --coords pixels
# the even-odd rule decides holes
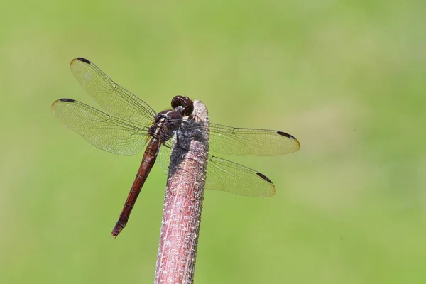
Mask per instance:
[[[160,167],[168,173],[173,147],[187,147],[180,145],[176,135],[182,131],[184,118],[192,115],[193,102],[188,97],[175,96],[171,109],[157,113],[142,99],[116,84],[93,62],[75,58],[70,68],[82,88],[107,112],[75,99],[58,99],[51,108],[62,123],[97,148],[119,155],[136,155],[148,144],[119,220],[111,232],[111,236],[116,237],[129,221],[136,199],[155,161],[158,160]],[[300,149],[299,141],[283,131],[236,128],[221,124],[185,126],[186,129],[193,127],[208,131],[209,152],[271,156],[294,153]],[[275,185],[266,175],[210,154],[204,188],[252,197],[275,195]]]

